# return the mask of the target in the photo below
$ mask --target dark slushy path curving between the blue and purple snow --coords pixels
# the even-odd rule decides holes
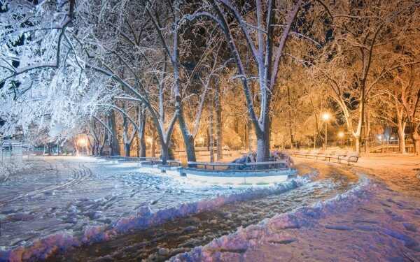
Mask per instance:
[[[262,219],[332,198],[356,186],[357,177],[341,168],[312,165],[316,168],[305,163],[298,163],[297,167],[300,173],[319,172],[318,182],[303,184],[281,194],[222,205],[109,242],[53,254],[49,261],[165,261],[175,254],[233,233],[239,226],[258,224]]]

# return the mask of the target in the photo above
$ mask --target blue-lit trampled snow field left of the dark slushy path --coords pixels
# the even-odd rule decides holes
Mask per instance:
[[[38,158],[29,164],[29,171],[1,184],[0,260],[45,259],[59,248],[109,240],[174,217],[281,193],[308,182],[297,178],[270,187],[198,184],[83,157]]]

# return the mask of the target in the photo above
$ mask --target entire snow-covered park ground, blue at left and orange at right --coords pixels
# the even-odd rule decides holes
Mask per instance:
[[[38,157],[1,182],[0,261],[420,261],[419,163],[296,159],[309,176],[232,187],[133,163]]]

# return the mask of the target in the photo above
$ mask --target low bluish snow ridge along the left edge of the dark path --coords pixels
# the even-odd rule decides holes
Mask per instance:
[[[216,198],[193,203],[184,203],[176,208],[166,208],[158,210],[157,212],[151,212],[147,207],[142,206],[137,210],[137,215],[123,217],[118,221],[111,223],[109,226],[87,226],[81,233],[63,231],[50,235],[47,238],[36,240],[30,245],[16,247],[15,249],[1,247],[0,261],[46,259],[57,249],[69,249],[71,247],[79,247],[80,245],[88,245],[93,242],[110,240],[121,233],[160,224],[163,221],[168,221],[174,217],[195,214],[234,201],[244,201],[250,198],[267,196],[269,194],[279,194],[283,191],[300,187],[302,184],[306,184],[309,181],[308,177],[296,177],[293,180],[276,184],[272,187],[255,187],[242,193],[230,194],[229,196],[218,195]]]

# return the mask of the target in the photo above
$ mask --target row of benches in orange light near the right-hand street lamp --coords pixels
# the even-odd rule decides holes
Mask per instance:
[[[358,152],[354,151],[334,151],[334,150],[299,150],[292,153],[295,157],[301,156],[301,157],[314,157],[316,159],[323,159],[330,161],[331,159],[337,160],[338,163],[341,163],[342,161],[345,161],[349,164],[357,163],[358,159],[361,157]]]

